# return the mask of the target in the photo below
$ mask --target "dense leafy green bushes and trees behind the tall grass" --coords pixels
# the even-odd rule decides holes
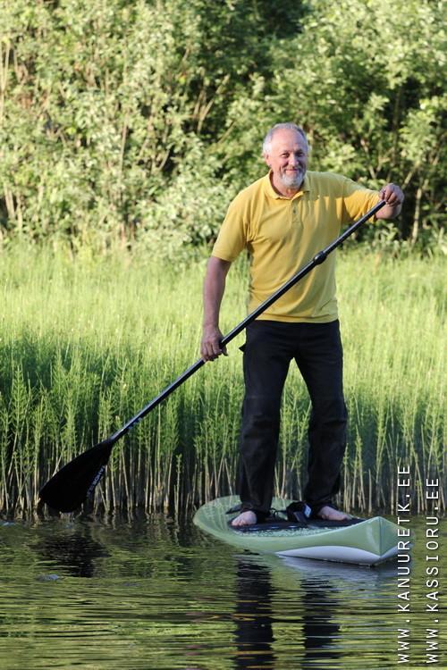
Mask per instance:
[[[436,0],[0,0],[0,237],[213,239],[274,122],[312,167],[407,200],[388,243],[442,247]]]

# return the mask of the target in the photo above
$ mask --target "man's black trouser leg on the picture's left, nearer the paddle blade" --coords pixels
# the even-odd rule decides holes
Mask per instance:
[[[242,508],[261,515],[268,514],[274,490],[281,396],[292,357],[286,349],[276,323],[253,322],[247,329],[238,492]]]

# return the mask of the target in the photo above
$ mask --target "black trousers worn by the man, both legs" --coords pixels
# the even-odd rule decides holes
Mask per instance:
[[[339,322],[255,321],[247,328],[242,350],[245,398],[238,490],[242,508],[262,515],[271,507],[281,397],[292,359],[306,382],[312,403],[304,499],[313,507],[323,507],[339,490],[346,446]]]

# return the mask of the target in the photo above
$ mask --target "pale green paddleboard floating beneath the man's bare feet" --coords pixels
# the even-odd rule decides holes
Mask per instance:
[[[228,496],[216,498],[198,509],[194,523],[210,535],[242,549],[281,556],[319,558],[359,565],[375,565],[397,554],[397,530],[395,523],[382,516],[375,516],[353,525],[324,527],[321,522],[308,527],[295,527],[281,523],[257,525],[257,530],[240,532],[232,529],[229,521],[235,516],[227,511],[239,502],[239,498]],[[290,500],[274,498],[273,507],[284,509]]]

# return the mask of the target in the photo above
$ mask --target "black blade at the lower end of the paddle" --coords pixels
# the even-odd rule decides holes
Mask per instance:
[[[73,512],[80,507],[105,472],[115,440],[104,440],[84,451],[55,473],[42,490],[39,498],[59,512]]]

